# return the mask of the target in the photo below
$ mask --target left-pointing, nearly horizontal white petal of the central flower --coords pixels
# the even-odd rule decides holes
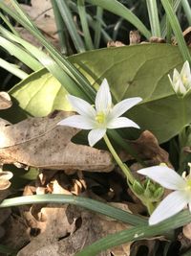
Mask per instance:
[[[61,120],[57,125],[83,129],[95,128],[95,124],[91,119],[80,115],[69,116]]]

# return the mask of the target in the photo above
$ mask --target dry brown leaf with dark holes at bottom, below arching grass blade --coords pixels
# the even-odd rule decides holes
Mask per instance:
[[[93,244],[96,240],[116,233],[117,231],[127,229],[130,225],[123,224],[86,210],[70,205],[59,208],[49,205],[41,209],[41,213],[46,216],[45,228],[42,233],[32,242],[25,246],[17,256],[28,255],[62,255],[73,256],[74,253],[81,250],[88,244]],[[42,226],[41,226],[42,228]],[[111,252],[115,256],[129,256],[130,244],[123,244],[102,252],[100,256],[109,256]]]

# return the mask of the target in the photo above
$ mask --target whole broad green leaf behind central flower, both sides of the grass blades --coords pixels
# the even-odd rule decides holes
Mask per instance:
[[[114,102],[141,97],[143,102],[128,111],[127,116],[140,128],[151,130],[159,143],[169,140],[191,122],[191,95],[184,100],[178,98],[167,77],[175,67],[180,70],[182,66],[178,47],[142,44],[90,51],[69,59],[93,86],[107,78]],[[33,73],[16,85],[11,94],[34,116],[47,115],[55,108],[69,109],[64,98],[66,91],[51,78],[45,70]],[[129,129],[125,132],[129,137]]]

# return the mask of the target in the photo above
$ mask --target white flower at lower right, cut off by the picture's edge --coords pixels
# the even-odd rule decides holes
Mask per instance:
[[[174,190],[164,198],[149,218],[149,224],[157,224],[179,213],[187,204],[191,211],[191,175],[178,175],[174,170],[164,167],[148,167],[138,171],[140,175],[147,175],[164,188]]]

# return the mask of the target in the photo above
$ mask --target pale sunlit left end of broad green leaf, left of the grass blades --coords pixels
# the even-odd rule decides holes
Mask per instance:
[[[71,110],[65,97],[67,91],[47,69],[32,73],[10,93],[33,116],[46,116],[54,109]]]

